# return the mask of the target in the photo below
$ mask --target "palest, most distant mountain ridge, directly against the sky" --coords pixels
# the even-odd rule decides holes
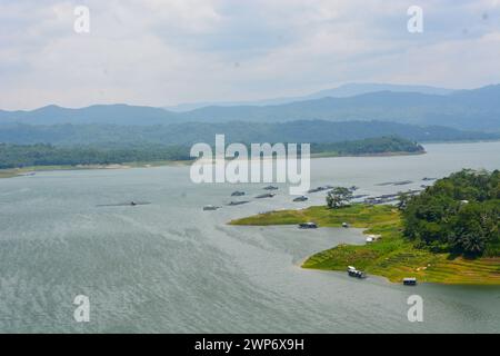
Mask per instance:
[[[284,97],[254,101],[222,101],[222,102],[191,102],[180,103],[177,106],[166,107],[167,110],[174,112],[191,111],[204,107],[234,107],[234,106],[269,106],[269,105],[282,105],[294,101],[304,101],[321,98],[348,98],[362,93],[377,92],[377,91],[393,91],[393,92],[420,92],[430,95],[449,95],[453,92],[452,89],[436,88],[429,86],[403,86],[403,85],[383,85],[383,83],[348,83],[332,89],[320,90],[310,95],[301,97]]]

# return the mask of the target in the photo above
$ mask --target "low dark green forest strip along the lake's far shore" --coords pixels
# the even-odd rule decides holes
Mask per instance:
[[[229,144],[229,142],[227,142]],[[381,137],[338,144],[311,145],[311,152],[372,155],[383,152],[417,152],[423,148],[398,137]],[[0,144],[0,169],[29,166],[109,165],[137,161],[189,160],[190,147],[180,145],[136,144],[104,146],[52,146]]]

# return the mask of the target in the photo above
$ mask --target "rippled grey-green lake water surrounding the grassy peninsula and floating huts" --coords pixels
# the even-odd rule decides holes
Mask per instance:
[[[419,187],[463,167],[500,168],[500,142],[427,145],[427,155],[321,158],[312,186],[357,185],[359,194]],[[393,180],[414,184],[393,187]],[[189,167],[50,171],[0,179],[0,332],[62,333],[474,333],[500,332],[500,288],[422,284],[304,270],[307,256],[358,229],[232,227],[232,218],[324,202],[273,199],[202,211],[230,192],[264,185],[194,185]],[[130,200],[148,206],[97,207]],[[423,323],[407,298],[423,298]],[[73,299],[90,298],[90,323]]]

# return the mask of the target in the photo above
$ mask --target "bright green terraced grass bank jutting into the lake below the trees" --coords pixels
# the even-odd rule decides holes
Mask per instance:
[[[366,234],[381,235],[382,238],[363,246],[339,245],[318,253],[303,263],[303,268],[343,271],[347,266],[356,266],[391,281],[417,277],[419,281],[428,283],[500,285],[499,257],[466,259],[417,249],[403,238],[399,211],[391,206],[310,207],[261,214],[230,224],[269,226],[307,221],[314,221],[320,227],[340,227],[346,221],[352,227],[367,228]]]

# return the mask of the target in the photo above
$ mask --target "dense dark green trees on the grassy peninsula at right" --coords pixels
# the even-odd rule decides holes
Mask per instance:
[[[404,235],[434,251],[500,256],[500,171],[462,170],[402,197]]]

